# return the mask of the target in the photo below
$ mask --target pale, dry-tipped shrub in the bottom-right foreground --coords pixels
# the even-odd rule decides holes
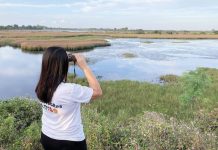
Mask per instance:
[[[215,150],[218,146],[214,134],[202,133],[193,124],[179,122],[156,112],[145,112],[129,121],[128,125],[119,127],[116,132],[120,149]]]

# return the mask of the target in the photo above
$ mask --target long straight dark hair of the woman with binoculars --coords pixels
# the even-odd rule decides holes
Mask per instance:
[[[68,56],[62,47],[49,47],[42,58],[42,69],[35,92],[38,99],[50,103],[61,82],[67,80]]]

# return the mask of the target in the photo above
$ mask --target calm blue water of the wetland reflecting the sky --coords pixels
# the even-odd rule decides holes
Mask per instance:
[[[181,75],[197,67],[218,68],[218,40],[110,39],[109,42],[110,47],[83,52],[101,80],[158,82],[160,75]],[[136,57],[125,58],[124,53]],[[35,97],[41,59],[42,54],[0,48],[0,98]],[[84,76],[78,68],[76,72]]]

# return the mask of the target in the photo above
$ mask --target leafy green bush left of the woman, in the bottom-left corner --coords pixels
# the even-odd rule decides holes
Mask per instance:
[[[36,150],[40,134],[40,105],[28,98],[0,102],[0,145],[11,150]]]

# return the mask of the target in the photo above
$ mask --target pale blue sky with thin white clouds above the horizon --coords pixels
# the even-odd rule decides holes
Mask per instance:
[[[218,0],[0,0],[0,25],[218,30]]]

